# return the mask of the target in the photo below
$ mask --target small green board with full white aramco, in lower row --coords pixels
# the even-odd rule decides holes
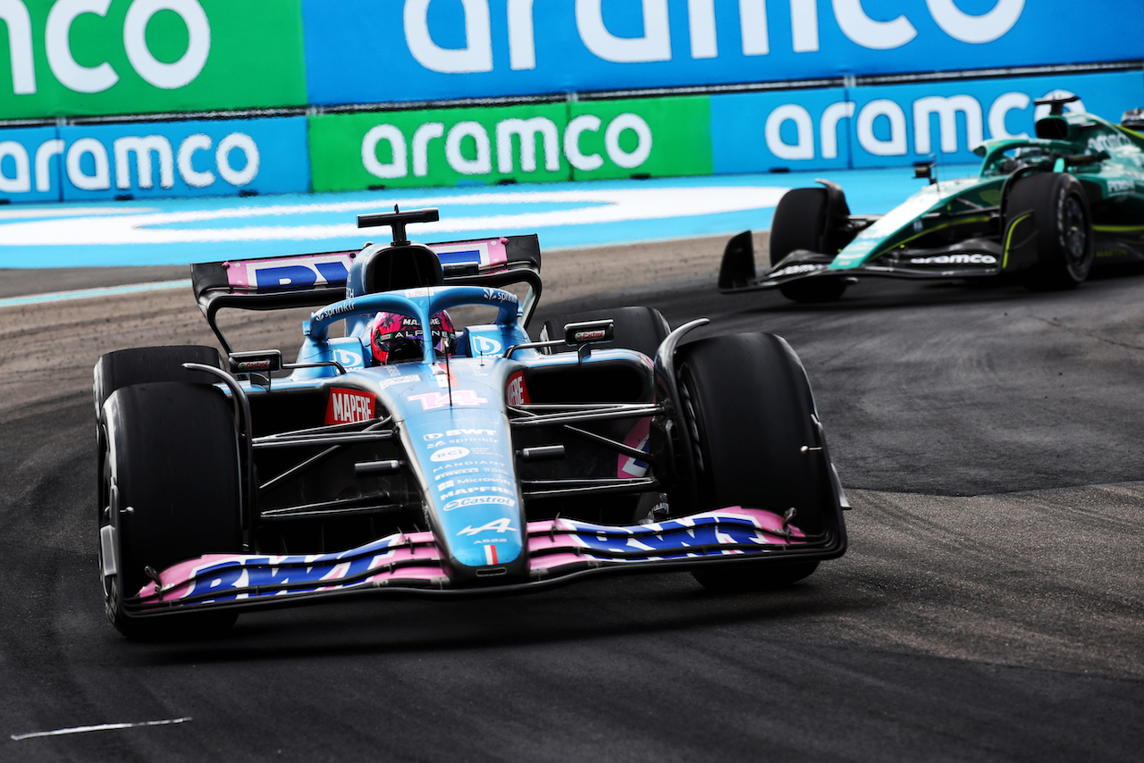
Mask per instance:
[[[315,191],[712,172],[706,96],[310,117]]]

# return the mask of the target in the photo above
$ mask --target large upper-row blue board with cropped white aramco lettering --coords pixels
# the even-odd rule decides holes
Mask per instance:
[[[1144,58],[1144,3],[303,0],[315,105]]]

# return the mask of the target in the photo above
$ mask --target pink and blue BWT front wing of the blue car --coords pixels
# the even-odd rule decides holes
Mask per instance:
[[[527,523],[526,580],[455,587],[431,532],[397,533],[336,554],[206,555],[156,573],[124,602],[133,617],[190,610],[301,604],[347,594],[523,593],[599,572],[637,572],[721,562],[792,562],[840,556],[845,539],[803,533],[774,511],[729,507],[659,523]]]

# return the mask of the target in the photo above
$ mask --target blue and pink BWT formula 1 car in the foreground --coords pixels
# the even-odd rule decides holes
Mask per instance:
[[[100,561],[124,635],[607,572],[757,589],[845,551],[845,499],[784,340],[684,343],[705,319],[670,331],[621,308],[533,341],[537,237],[406,240],[436,218],[363,215],[394,240],[357,252],[193,265],[225,353],[100,359]],[[294,363],[233,351],[219,327],[223,309],[299,307],[319,309]]]

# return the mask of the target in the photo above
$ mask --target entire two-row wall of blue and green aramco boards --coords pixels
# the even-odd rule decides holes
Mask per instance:
[[[0,202],[972,162],[1141,62],[1141,0],[0,0]]]

